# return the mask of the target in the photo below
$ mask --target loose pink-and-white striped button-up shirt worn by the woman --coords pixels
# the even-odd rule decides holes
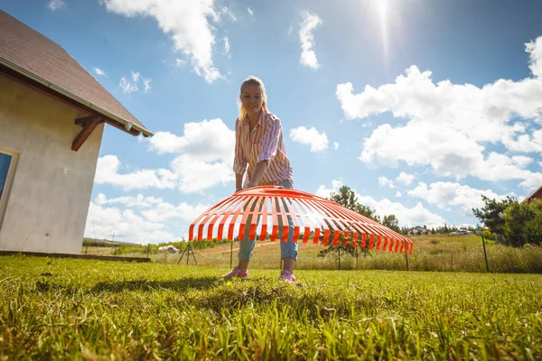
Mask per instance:
[[[273,114],[262,109],[257,125],[250,132],[248,116],[237,120],[235,124],[235,158],[233,171],[244,174],[247,170],[243,188],[256,169],[258,162],[267,161],[267,170],[258,182],[258,186],[277,185],[283,180],[294,183],[294,171],[286,156],[282,125]]]

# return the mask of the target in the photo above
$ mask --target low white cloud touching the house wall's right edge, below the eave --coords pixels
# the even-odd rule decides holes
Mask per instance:
[[[165,169],[139,170],[120,174],[120,161],[116,155],[98,158],[94,181],[98,184],[112,184],[123,190],[141,190],[147,188],[174,189],[178,176]]]

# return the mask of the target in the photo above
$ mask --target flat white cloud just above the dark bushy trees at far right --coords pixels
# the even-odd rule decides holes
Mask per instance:
[[[424,199],[435,204],[438,208],[448,209],[450,206],[459,206],[465,216],[472,217],[472,208],[481,208],[484,202],[481,196],[490,199],[504,199],[507,195],[499,195],[492,190],[477,190],[460,183],[437,181],[427,187],[425,182],[419,182],[414,190],[408,190],[413,197]]]

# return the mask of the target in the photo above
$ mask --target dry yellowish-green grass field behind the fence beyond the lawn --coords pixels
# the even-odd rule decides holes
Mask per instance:
[[[414,253],[408,256],[408,269],[411,271],[446,271],[446,272],[486,272],[481,237],[457,235],[410,236],[414,242]],[[197,241],[196,241],[197,242]],[[214,248],[195,250],[198,265],[229,267],[231,244],[218,245]],[[323,245],[312,243],[299,244],[297,269],[335,270],[339,268],[337,255],[318,257]],[[542,247],[526,246],[512,248],[486,242],[488,265],[492,273],[542,273]],[[121,248],[122,249],[122,248]],[[141,245],[139,251],[134,246],[126,247],[129,252],[122,255],[146,256],[147,247]],[[233,263],[237,260],[238,243],[233,245]],[[104,254],[107,247],[93,250],[84,249],[82,253]],[[114,248],[109,247],[113,255]],[[158,254],[151,252],[154,262],[176,264],[181,255]],[[186,258],[182,263],[186,264]],[[194,264],[193,259],[189,264]],[[280,264],[280,245],[278,242],[257,241],[251,267],[273,269]],[[342,270],[406,270],[405,255],[378,250],[370,251],[368,256],[358,258],[341,255]]]

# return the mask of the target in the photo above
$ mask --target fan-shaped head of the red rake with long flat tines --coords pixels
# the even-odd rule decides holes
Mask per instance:
[[[257,236],[266,239],[270,232],[271,241],[280,238],[286,242],[288,218],[294,224],[294,242],[303,232],[304,243],[313,236],[315,244],[331,241],[338,245],[341,239],[342,245],[351,242],[369,249],[412,254],[412,241],[388,227],[329,199],[279,186],[240,190],[222,200],[192,222],[189,240],[233,240],[245,235],[256,240]],[[279,228],[283,229],[280,235]]]

